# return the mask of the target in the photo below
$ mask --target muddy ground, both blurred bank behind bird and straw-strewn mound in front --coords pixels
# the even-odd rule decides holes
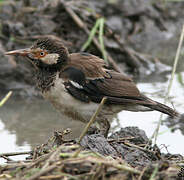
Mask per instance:
[[[35,39],[48,35],[63,41],[70,52],[81,51],[100,17],[106,20],[104,39],[110,68],[139,81],[165,81],[160,74],[170,71],[162,63],[169,64],[175,55],[173,47],[183,24],[183,8],[182,2],[147,0],[0,1],[0,96],[13,90],[15,96],[40,97],[32,66],[21,58],[4,56],[6,51],[28,47]],[[86,51],[103,57],[98,45],[92,43]],[[183,157],[162,154],[151,144],[145,147],[148,138],[136,127],[121,129],[109,139],[100,134],[86,135],[81,152],[76,140],[65,141],[57,133],[54,138],[51,145],[46,143],[30,152],[30,159],[24,162],[12,162],[7,154],[1,154],[9,163],[0,167],[0,178],[181,179],[183,176]]]

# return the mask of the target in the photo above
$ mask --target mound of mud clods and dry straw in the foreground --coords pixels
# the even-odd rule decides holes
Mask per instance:
[[[145,132],[126,127],[108,139],[101,134],[65,140],[68,130],[54,132],[47,143],[36,147],[25,161],[12,161],[4,153],[7,165],[0,166],[0,177],[8,179],[153,179],[174,180],[183,177],[183,157],[163,154],[149,142]]]

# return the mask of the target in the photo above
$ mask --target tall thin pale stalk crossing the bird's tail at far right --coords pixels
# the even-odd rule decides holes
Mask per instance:
[[[180,40],[179,40],[179,43],[178,43],[178,48],[177,48],[177,51],[176,51],[176,56],[175,56],[174,64],[173,64],[173,68],[172,68],[171,79],[169,81],[169,86],[167,88],[167,93],[166,93],[166,96],[165,96],[165,99],[164,99],[164,104],[167,102],[168,97],[169,97],[169,93],[171,91],[174,75],[175,75],[175,72],[176,72],[176,66],[178,64],[178,60],[179,60],[179,56],[180,56],[180,52],[181,52],[181,46],[182,46],[182,43],[183,43],[183,38],[184,38],[184,25],[183,25],[182,32],[181,32],[181,35],[180,35]],[[156,141],[157,141],[160,125],[161,125],[161,122],[162,122],[162,116],[163,116],[163,114],[160,115],[160,119],[159,119],[157,128],[155,129],[155,132],[154,132],[154,135],[153,135],[155,137],[154,144],[156,144]]]

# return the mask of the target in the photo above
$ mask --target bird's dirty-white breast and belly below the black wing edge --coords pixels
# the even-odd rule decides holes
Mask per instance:
[[[48,99],[61,113],[71,117],[73,120],[88,122],[98,107],[94,102],[82,102],[71,96],[65,86],[64,80],[56,76],[54,85],[43,96]]]

